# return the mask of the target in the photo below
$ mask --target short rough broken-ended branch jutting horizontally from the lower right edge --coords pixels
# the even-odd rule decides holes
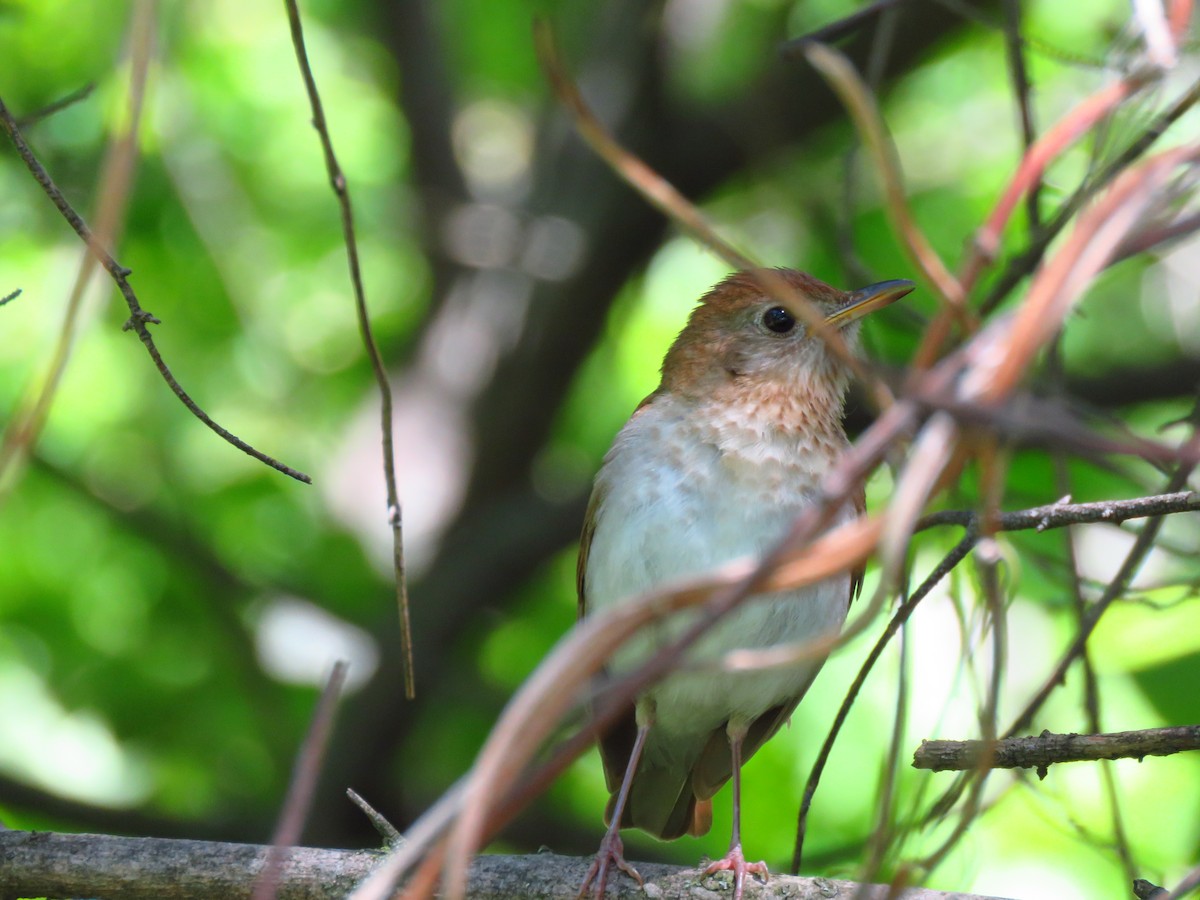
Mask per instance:
[[[922,740],[913,754],[917,769],[962,772],[976,768],[1045,769],[1056,762],[1084,760],[1141,760],[1170,756],[1182,750],[1200,750],[1200,725],[1171,728],[1117,731],[1109,734],[1040,734],[986,740]]]

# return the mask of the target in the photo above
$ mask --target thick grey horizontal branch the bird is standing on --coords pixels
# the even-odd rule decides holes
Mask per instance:
[[[52,834],[0,830],[0,900],[22,896],[104,896],[120,900],[222,900],[248,898],[270,847],[251,844],[113,838],[101,834]],[[370,850],[289,851],[280,872],[280,900],[343,898],[380,857]],[[590,860],[553,853],[485,856],[470,866],[473,900],[574,898]],[[721,876],[701,880],[696,869],[638,863],[643,893],[632,881],[610,884],[607,896],[694,900],[700,884],[720,889]],[[652,887],[653,886],[653,887]],[[886,900],[887,886],[863,886],[826,878],[772,875],[755,896],[790,900]],[[968,894],[910,888],[904,900],[992,900]]]

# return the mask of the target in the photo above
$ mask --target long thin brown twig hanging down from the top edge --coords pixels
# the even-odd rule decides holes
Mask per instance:
[[[346,257],[350,268],[350,284],[354,287],[354,310],[359,319],[359,331],[362,334],[362,346],[371,359],[376,384],[379,388],[379,428],[383,438],[383,474],[388,484],[388,524],[391,527],[391,562],[396,581],[396,605],[400,608],[401,652],[404,654],[404,696],[412,700],[416,696],[416,683],[413,673],[413,625],[408,613],[408,578],[404,574],[404,522],[400,505],[400,491],[396,487],[396,451],[392,445],[391,422],[391,384],[388,370],[371,330],[371,314],[367,312],[366,292],[362,288],[362,269],[359,265],[359,241],[354,232],[354,209],[350,205],[350,192],[346,185],[346,175],[334,152],[334,139],[325,122],[325,110],[317,90],[317,79],[308,65],[308,50],[304,42],[304,28],[300,23],[300,10],[296,0],[283,0],[288,11],[288,25],[292,29],[292,46],[295,48],[300,76],[304,78],[312,108],[312,125],[320,138],[320,149],[325,155],[325,169],[329,184],[334,188],[337,205],[342,214],[342,239],[346,241]]]

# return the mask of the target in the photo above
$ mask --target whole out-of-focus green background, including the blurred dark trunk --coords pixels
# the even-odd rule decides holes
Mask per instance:
[[[116,258],[132,271],[176,377],[214,418],[311,473],[293,482],[221,443],[170,396],[104,278],[85,294],[53,412],[0,484],[0,818],[10,828],[269,840],[293,754],[334,659],[352,664],[305,840],[366,846],[349,786],[397,826],[470,764],[506,697],[575,614],[575,540],[592,474],[656,384],[688,310],[726,271],[665,227],[572,137],[532,49],[550,16],[568,65],[622,139],[702,200],[722,235],[769,264],[845,287],[916,277],[854,134],[779,44],[848,12],[838,0],[664,5],[320,2],[308,49],[358,214],[376,336],[397,394],[419,697],[400,689],[376,390],[361,349],[337,210],[282,5],[0,2],[0,96],[20,116],[86,84],[28,137],[89,217],[108,142],[127,121],[130,23],[155,35],[139,158]],[[952,268],[1020,158],[998,5],[937,4],[901,32],[881,103],[914,216]],[[1135,49],[1117,0],[1021,5],[1045,128]],[[424,12],[422,12],[424,11]],[[1052,211],[1187,78],[1123,109],[1049,172]],[[1195,138],[1194,115],[1164,139]],[[847,180],[853,188],[847,190]],[[1187,199],[1186,196],[1183,198]],[[1024,214],[1006,251],[1025,246]],[[8,148],[0,151],[0,420],[46,377],[79,241]],[[1104,272],[1068,322],[1066,392],[1108,433],[1186,415],[1200,358],[1200,278],[1186,245]],[[985,286],[986,288],[986,281]],[[984,292],[980,292],[982,298]],[[1015,292],[1007,306],[1020,300]],[[976,299],[978,302],[978,299]],[[1006,308],[1006,307],[1002,307]],[[865,329],[889,367],[935,302],[920,289]],[[1141,380],[1139,380],[1139,378]],[[851,402],[856,428],[866,420]],[[1129,458],[1018,448],[1006,508],[1120,499],[1165,478]],[[973,503],[973,473],[944,498]],[[869,505],[890,492],[887,470]],[[1132,528],[1073,533],[1084,595]],[[1198,720],[1198,522],[1169,522],[1136,589],[1092,642],[1103,727]],[[1126,532],[1126,534],[1122,534]],[[956,540],[920,535],[920,580]],[[1010,600],[1003,725],[1074,632],[1063,532],[1003,538]],[[874,575],[868,576],[868,590]],[[908,768],[922,738],[977,737],[989,641],[973,569],[916,616],[906,678],[889,652],[854,707],[810,821],[805,874],[853,877],[878,816],[898,690],[906,697],[883,876],[944,839],[916,826],[949,775]],[[829,661],[791,727],[746,769],[748,853],[782,869],[809,766],[878,626]],[[1034,731],[1086,731],[1078,667]],[[1198,862],[1200,761],[1112,766],[1136,872]],[[985,812],[930,883],[1036,896],[1128,894],[1097,766],[998,774]],[[587,853],[605,791],[589,755],[494,845]],[[694,863],[712,833],[630,857]]]

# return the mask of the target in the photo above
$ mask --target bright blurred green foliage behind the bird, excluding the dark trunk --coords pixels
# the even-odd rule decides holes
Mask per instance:
[[[589,78],[631,77],[602,70],[604,48],[589,40],[593,28],[602,31],[593,19],[605,13],[600,5],[586,6],[546,7],[560,19],[568,58],[601,67],[580,64],[584,85]],[[680,104],[715,109],[742,102],[782,38],[856,5],[666,6],[673,31],[664,41],[664,90]],[[1044,126],[1104,82],[1098,61],[1111,61],[1127,10],[1117,0],[1022,7]],[[539,158],[529,156],[535,122],[550,108],[530,48],[532,12],[533,5],[516,0],[452,0],[432,11],[454,97],[440,113],[460,130],[458,152],[472,152],[473,145],[461,145],[461,130],[472,110],[482,109],[499,128],[503,152],[515,154],[504,157],[516,167],[515,184],[530,178],[521,167]],[[156,17],[156,44],[137,178],[115,256],[132,269],[143,305],[162,319],[156,340],[198,402],[234,433],[312,473],[317,484],[288,481],[192,419],[137,340],[121,331],[127,311],[119,295],[103,278],[92,280],[44,430],[25,464],[0,485],[0,817],[11,828],[84,829],[96,827],[101,811],[115,810],[128,817],[114,829],[266,840],[332,658],[359,647],[356,640],[384,660],[398,652],[378,491],[377,400],[281,5],[0,2],[0,96],[20,116],[95,85],[89,97],[26,130],[64,193],[85,217],[92,215],[106,148],[128,115],[126,35],[136,14]],[[422,217],[427,198],[414,162],[414,136],[437,116],[400,102],[402,76],[384,36],[390,14],[389,4],[366,0],[305,8],[308,50],[354,197],[376,337],[404,395],[428,377],[421,341],[446,302],[434,296],[446,251]],[[956,264],[1021,150],[1002,36],[965,23],[889,85],[883,112],[914,215]],[[1184,127],[1194,137],[1194,122]],[[800,265],[835,283],[851,281],[854,271],[912,277],[865,161],[859,156],[857,169],[847,168],[852,144],[844,122],[815,130],[722,182],[704,209],[722,234],[773,264]],[[1044,205],[1061,200],[1094,149],[1081,146],[1050,170]],[[847,208],[851,172],[857,187]],[[520,196],[514,188],[508,200]],[[7,150],[0,152],[0,295],[24,292],[0,308],[0,420],[11,422],[43,384],[83,251]],[[1010,228],[1007,250],[1022,246],[1026,234],[1024,223]],[[847,242],[857,270],[847,265]],[[1186,282],[1192,293],[1182,299],[1183,288],[1163,289],[1164,265],[1133,259],[1093,286],[1062,341],[1068,378],[1198,354],[1200,331],[1186,328],[1196,324],[1195,282]],[[695,298],[724,271],[691,241],[668,234],[628,281],[532,466],[540,497],[586,491],[612,436],[654,388],[662,353]],[[865,338],[872,356],[904,365],[934,310],[930,292],[920,292],[905,308],[872,320]],[[462,346],[463,358],[452,359],[449,371],[469,378],[475,360],[472,346]],[[1147,397],[1097,421],[1154,437],[1188,412],[1190,390],[1180,385],[1175,396]],[[470,446],[470,434],[458,433],[461,422],[449,410],[444,419],[400,421],[401,428],[412,426],[397,439],[406,504],[413,498],[413,599],[420,604],[421,578],[439,571],[439,540],[461,500],[462,460],[488,448]],[[458,428],[464,451],[439,437],[439,422]],[[418,466],[426,460],[422,446],[442,474]],[[450,488],[439,487],[443,475]],[[976,503],[973,479],[968,472],[948,503]],[[1144,463],[1070,460],[1056,467],[1045,450],[1021,449],[1010,460],[1006,505],[1050,503],[1068,491],[1076,500],[1130,497],[1156,492],[1162,481]],[[877,473],[870,505],[886,503],[890,486],[890,474]],[[440,499],[422,499],[438,491]],[[1112,610],[1092,641],[1108,728],[1198,719],[1196,533],[1194,515],[1168,523],[1130,600]],[[920,536],[914,582],[956,538],[954,529]],[[1001,721],[1020,709],[1074,634],[1066,540],[1066,533],[1002,536],[1010,606]],[[1075,545],[1084,595],[1094,598],[1128,535],[1086,527]],[[376,684],[372,694],[352,682],[350,703],[370,698],[370,722],[378,727],[352,716],[343,739],[359,750],[362,742],[379,749],[355,757],[370,768],[335,769],[337,776],[355,779],[355,787],[370,780],[379,793],[368,799],[404,824],[466,770],[506,696],[572,622],[574,553],[564,533],[522,587],[493,595],[481,581],[478,605],[445,642],[430,643],[419,630],[419,659],[434,660],[439,676],[419,685],[418,706],[406,707],[396,684]],[[306,631],[312,617],[301,613],[272,618],[289,598],[324,610],[336,628]],[[305,607],[284,611],[298,608]],[[266,622],[292,655],[293,674],[282,674],[278,660],[265,655]],[[978,733],[977,691],[988,666],[980,629],[966,565],[930,598],[906,638],[901,757],[920,738]],[[756,858],[776,866],[790,858],[809,766],[874,640],[869,631],[829,661],[791,728],[749,766],[744,833]],[[371,654],[355,653],[352,661],[366,667],[359,677],[370,677]],[[839,740],[812,812],[812,872],[852,875],[863,858],[878,815],[899,671],[898,655],[887,655]],[[1087,730],[1081,697],[1073,672],[1039,727]],[[392,720],[404,724],[398,746],[389,743]],[[1178,756],[1112,768],[1140,874],[1178,877],[1200,846],[1200,761]],[[947,776],[910,770],[901,758],[898,818],[914,824],[910,820],[947,784]],[[18,785],[43,793],[6,798]],[[330,804],[343,786],[332,786]],[[54,805],[55,798],[73,805]],[[1024,898],[1122,895],[1103,798],[1094,766],[1057,767],[1044,781],[997,775],[986,814],[934,886]],[[509,835],[503,846],[545,842],[583,852],[583,842],[599,840],[604,800],[600,767],[586,757],[551,790],[532,832]],[[326,805],[314,815],[317,840],[371,840],[352,814]],[[728,810],[719,803],[707,838],[665,847],[631,836],[631,857],[694,862],[701,852],[719,854],[727,826]],[[928,852],[950,827],[947,820],[907,832],[889,848],[888,864]]]

